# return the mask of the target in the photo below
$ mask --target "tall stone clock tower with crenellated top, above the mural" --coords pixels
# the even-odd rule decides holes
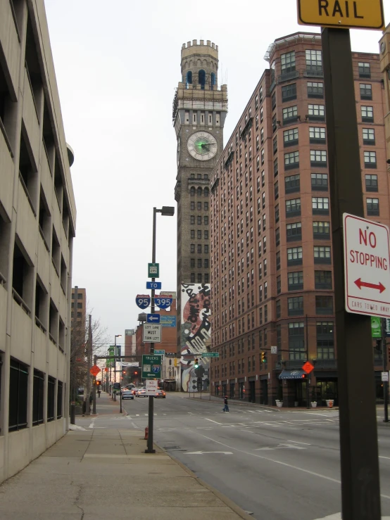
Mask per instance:
[[[182,284],[210,283],[210,177],[223,150],[227,86],[218,87],[218,45],[182,45],[182,81],[173,100],[177,138],[177,350]],[[199,291],[196,291],[199,292]]]

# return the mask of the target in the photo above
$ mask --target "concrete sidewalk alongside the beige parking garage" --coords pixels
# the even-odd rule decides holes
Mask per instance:
[[[119,414],[118,401],[111,401],[104,392],[96,400],[96,411],[99,417],[125,417]],[[0,486],[0,518],[251,518],[167,452],[155,446],[156,454],[147,454],[145,448],[144,432],[139,430],[69,431],[27,468]]]

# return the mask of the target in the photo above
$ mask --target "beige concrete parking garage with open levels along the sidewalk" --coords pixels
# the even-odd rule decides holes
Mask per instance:
[[[43,0],[0,5],[0,481],[69,417],[75,198]]]

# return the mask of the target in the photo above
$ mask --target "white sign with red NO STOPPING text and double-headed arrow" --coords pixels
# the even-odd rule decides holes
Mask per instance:
[[[389,228],[344,213],[346,311],[390,316]]]

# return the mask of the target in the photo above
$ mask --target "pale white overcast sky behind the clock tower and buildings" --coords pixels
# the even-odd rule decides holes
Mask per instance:
[[[87,289],[108,334],[137,326],[146,291],[153,206],[175,206],[172,100],[180,50],[219,46],[226,83],[226,144],[263,70],[265,51],[297,31],[294,0],[45,0],[77,206],[73,286]],[[385,1],[390,22],[390,1]],[[251,12],[250,12],[251,10]],[[280,17],[280,18],[277,18]],[[351,31],[353,51],[378,52],[378,31]],[[163,291],[176,291],[176,216],[157,215]]]

